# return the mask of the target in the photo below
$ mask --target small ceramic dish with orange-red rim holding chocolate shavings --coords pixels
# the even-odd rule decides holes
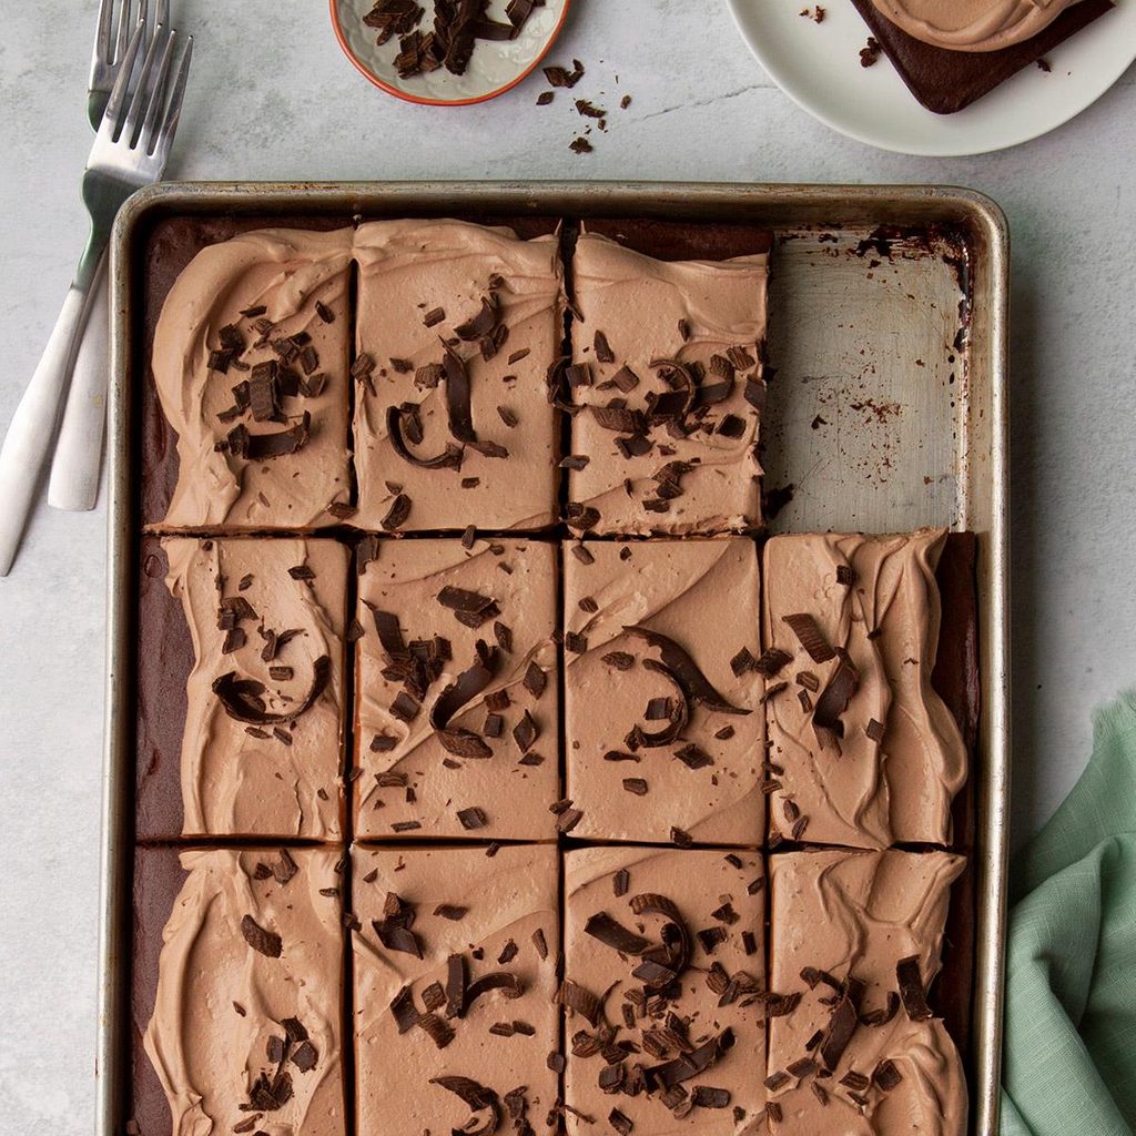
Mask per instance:
[[[426,32],[433,24],[433,3],[420,2],[426,14],[419,27]],[[540,64],[560,34],[569,2],[545,0],[543,7],[533,9],[515,40],[477,40],[463,75],[440,67],[410,78],[401,78],[394,66],[399,37],[378,47],[377,32],[364,23],[374,0],[331,0],[331,12],[343,53],[379,90],[427,107],[466,107],[504,94]],[[504,20],[502,0],[493,0],[487,16]]]

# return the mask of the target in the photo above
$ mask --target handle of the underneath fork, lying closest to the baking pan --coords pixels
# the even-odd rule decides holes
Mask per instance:
[[[72,370],[56,454],[48,482],[48,504],[86,512],[99,499],[102,440],[107,427],[110,300],[106,261],[93,285],[86,327]]]

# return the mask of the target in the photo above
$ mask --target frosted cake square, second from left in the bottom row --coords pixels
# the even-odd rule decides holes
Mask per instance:
[[[356,847],[352,880],[359,1131],[556,1131],[557,850]]]

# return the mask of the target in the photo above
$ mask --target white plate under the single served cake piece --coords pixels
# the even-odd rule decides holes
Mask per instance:
[[[1049,74],[1026,67],[964,110],[936,115],[886,56],[860,66],[869,32],[849,0],[822,3],[820,24],[801,16],[802,0],[726,2],[750,50],[794,102],[841,134],[899,153],[961,157],[1028,142],[1080,114],[1136,59],[1136,0],[1118,0],[1046,55]]]

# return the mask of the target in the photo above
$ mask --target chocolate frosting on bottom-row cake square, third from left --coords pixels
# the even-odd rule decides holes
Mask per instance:
[[[634,1131],[651,1136],[693,1131],[749,1136],[765,1131],[760,1113],[765,1104],[761,1070],[766,1026],[762,1005],[755,997],[765,989],[765,879],[760,854],[738,852],[735,861],[740,864],[732,863],[721,851],[702,850],[591,847],[565,853],[565,972],[570,982],[602,1000],[602,1021],[613,1027],[615,1044],[627,1042],[636,1047],[624,1061],[627,1072],[638,1064],[651,1068],[679,1055],[673,1047],[659,1056],[642,1047],[644,1029],[666,1027],[668,1012],[680,1019],[693,1047],[729,1031],[718,1060],[682,1081],[687,1093],[700,1085],[725,1089],[727,1103],[720,1108],[695,1105],[686,1116],[679,1109],[676,1116],[660,1100],[661,1089],[637,1095],[604,1093],[599,1084],[604,1058],[578,1055],[573,1046],[577,1031],[596,1030],[583,1014],[568,1013],[565,1099],[571,1108],[592,1117],[596,1130],[609,1130],[609,1113],[618,1109],[633,1122]],[[627,874],[619,888],[626,891],[617,895],[620,872]],[[677,980],[677,997],[655,996],[646,1017],[636,1017],[629,1027],[623,1006],[628,995],[635,997],[636,992],[643,991],[643,982],[632,975],[640,960],[633,954],[620,954],[588,934],[585,926],[604,912],[657,944],[669,917],[636,914],[633,904],[636,896],[652,894],[669,900],[677,909],[692,936],[691,961]],[[720,930],[724,937],[717,941],[719,937],[715,936],[716,942],[708,951],[699,933],[711,928]],[[747,936],[752,936],[752,942]],[[746,953],[746,943],[752,953]],[[753,986],[746,985],[736,996],[724,999],[708,985],[715,963],[743,985],[752,978]],[[735,1109],[742,1110],[741,1114]],[[584,1128],[570,1125],[573,1131]]]

